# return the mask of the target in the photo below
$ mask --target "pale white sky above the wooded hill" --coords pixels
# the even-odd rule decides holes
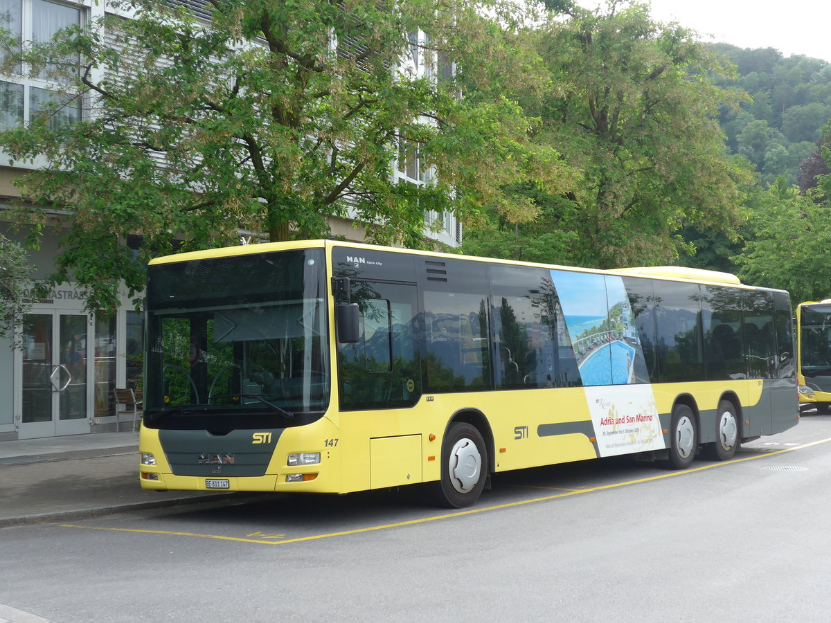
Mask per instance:
[[[578,0],[597,7],[597,0]],[[605,5],[605,2],[602,2]],[[678,22],[705,42],[774,47],[783,56],[802,54],[831,62],[829,0],[652,0],[652,17]]]

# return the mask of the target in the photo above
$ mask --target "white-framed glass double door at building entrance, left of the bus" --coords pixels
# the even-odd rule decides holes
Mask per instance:
[[[25,316],[20,439],[90,432],[90,331],[86,314]]]

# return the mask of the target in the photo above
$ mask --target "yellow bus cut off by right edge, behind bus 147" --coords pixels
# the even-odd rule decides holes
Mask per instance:
[[[831,412],[831,299],[796,308],[799,409]]]

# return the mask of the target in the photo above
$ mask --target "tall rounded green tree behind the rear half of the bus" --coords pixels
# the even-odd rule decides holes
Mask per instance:
[[[725,155],[717,122],[720,106],[742,101],[715,85],[729,64],[639,3],[575,8],[536,36],[550,88],[519,101],[542,120],[535,142],[559,150],[582,177],[572,193],[547,199],[535,184],[514,186],[547,220],[515,227],[494,219],[491,228],[514,233],[506,251],[536,256],[525,249],[544,231],[556,241],[548,261],[617,267],[676,261],[691,251],[679,236],[685,226],[735,237],[740,184],[751,174],[745,159]],[[476,243],[473,236],[465,248]]]

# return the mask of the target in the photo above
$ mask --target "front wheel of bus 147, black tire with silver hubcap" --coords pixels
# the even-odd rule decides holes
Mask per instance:
[[[479,499],[488,470],[488,450],[475,426],[453,424],[441,445],[441,480],[437,502],[464,508]]]

